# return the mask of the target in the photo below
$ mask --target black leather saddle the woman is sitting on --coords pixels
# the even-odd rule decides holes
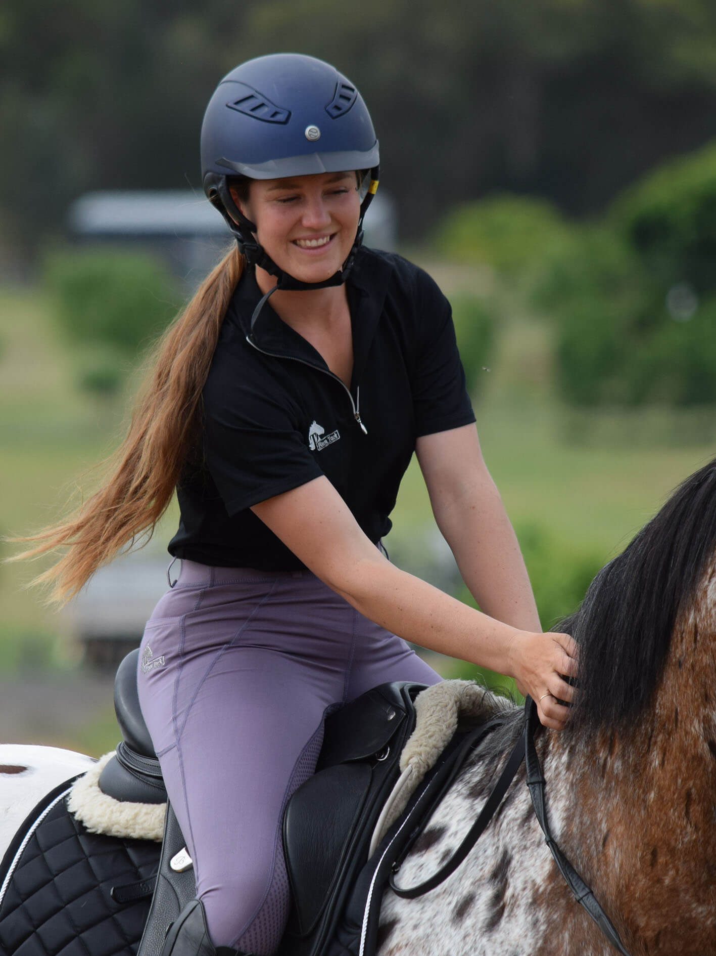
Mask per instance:
[[[123,741],[99,778],[118,800],[159,803],[166,792],[137,696],[138,650],[117,669],[115,709]],[[284,815],[284,854],[292,911],[280,952],[318,954],[352,880],[368,858],[373,827],[398,778],[400,752],[415,724],[412,702],[424,684],[373,688],[326,717],[316,773]],[[191,859],[171,805],[154,898],[137,956],[158,956],[167,928],[195,896]]]

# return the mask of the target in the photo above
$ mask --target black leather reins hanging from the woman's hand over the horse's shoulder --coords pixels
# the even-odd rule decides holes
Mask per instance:
[[[417,832],[413,833],[408,846],[404,848],[400,857],[393,865],[392,873],[390,874],[389,879],[390,889],[396,894],[396,896],[402,897],[404,900],[414,900],[416,897],[420,897],[425,893],[429,893],[436,886],[439,886],[444,880],[447,880],[473,849],[474,844],[477,842],[479,837],[485,832],[485,829],[495,815],[495,811],[501,803],[503,796],[505,793],[507,793],[510,784],[515,778],[515,774],[519,769],[519,765],[524,759],[525,770],[527,771],[527,787],[530,791],[530,797],[532,798],[532,805],[535,809],[535,815],[537,816],[539,826],[542,828],[545,842],[549,847],[552,856],[555,858],[559,872],[572,891],[575,900],[584,907],[594,922],[597,923],[601,932],[604,934],[604,936],[606,936],[609,942],[621,953],[621,956],[630,956],[629,951],[625,949],[621,943],[619,933],[604,910],[601,908],[600,903],[597,902],[594,893],[587,886],[584,880],[581,879],[579,873],[577,870],[575,870],[570,861],[561,852],[557,841],[555,840],[554,836],[552,836],[544,807],[545,781],[544,777],[542,776],[542,769],[539,766],[539,759],[537,757],[537,750],[535,748],[535,735],[539,726],[540,725],[537,718],[537,705],[531,697],[528,697],[525,700],[524,732],[520,734],[515,745],[515,749],[512,751],[503,771],[500,773],[499,779],[495,783],[495,787],[493,788],[492,793],[490,793],[490,796],[487,798],[487,801],[485,802],[480,814],[477,816],[477,819],[474,821],[474,824],[470,828],[468,834],[455,850],[453,856],[447,861],[447,863],[441,866],[437,873],[433,874],[429,880],[424,880],[417,886],[411,886],[405,889],[401,888],[400,886],[396,886],[395,875],[400,869],[401,863],[410,852],[411,846],[413,845],[418,832],[421,832],[423,826],[425,826],[425,824],[428,822],[428,819],[431,816],[431,814],[429,814],[428,817],[423,821],[423,826],[421,826]],[[454,774],[451,776],[451,780],[453,778]]]

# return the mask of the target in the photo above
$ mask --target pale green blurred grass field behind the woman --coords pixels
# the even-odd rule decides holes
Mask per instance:
[[[484,275],[436,266],[449,292],[484,292]],[[509,303],[508,303],[509,305]],[[485,458],[516,524],[605,561],[628,542],[669,490],[713,455],[709,412],[664,409],[575,413],[554,397],[548,329],[507,310],[500,346],[476,405]],[[0,291],[0,533],[28,533],[56,518],[116,443],[123,417],[74,387],[73,357],[57,338],[50,303],[32,290]],[[82,479],[82,475],[85,475]],[[78,479],[81,479],[78,484]],[[76,499],[75,499],[76,500]],[[172,514],[159,531],[168,539]],[[410,550],[431,525],[427,493],[411,465],[388,541]],[[3,554],[16,546],[3,545]],[[27,582],[42,563],[0,567],[0,673],[72,668],[63,619]],[[76,740],[98,753],[114,741],[111,702]],[[62,738],[65,746],[66,738]],[[50,741],[48,741],[50,742]]]

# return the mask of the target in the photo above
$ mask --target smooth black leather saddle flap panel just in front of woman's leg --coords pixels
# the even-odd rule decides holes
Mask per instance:
[[[288,803],[284,853],[302,935],[321,915],[363,810],[371,776],[367,763],[338,764],[309,777]]]

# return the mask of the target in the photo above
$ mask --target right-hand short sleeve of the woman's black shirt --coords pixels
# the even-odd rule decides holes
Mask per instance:
[[[425,272],[419,273],[412,398],[416,436],[474,422],[465,372],[457,351],[450,303]]]

